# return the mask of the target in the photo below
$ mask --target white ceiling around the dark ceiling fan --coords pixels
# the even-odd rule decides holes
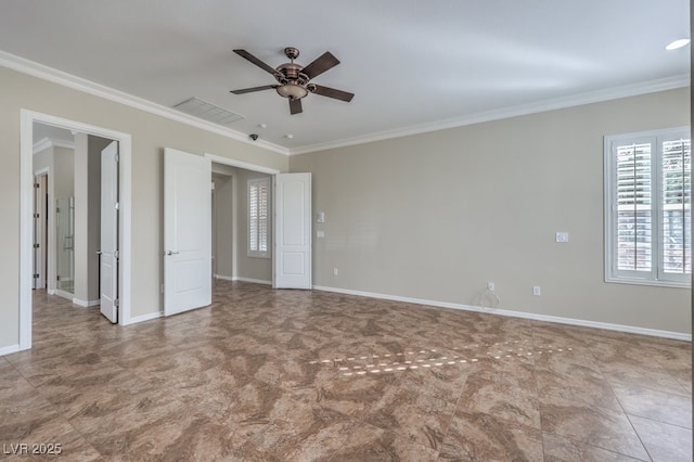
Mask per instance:
[[[657,88],[690,73],[687,0],[0,0],[0,50],[171,107],[191,97],[245,116],[242,133],[292,152],[424,131],[619,88]],[[234,54],[274,67],[284,47],[313,81],[291,116],[274,84]],[[580,99],[576,98],[576,101]],[[267,124],[267,128],[259,128]],[[293,139],[284,138],[286,133]]]

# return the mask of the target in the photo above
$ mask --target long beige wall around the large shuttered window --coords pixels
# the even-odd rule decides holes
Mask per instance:
[[[679,89],[292,156],[325,213],[313,283],[475,305],[493,281],[503,309],[691,333],[689,290],[603,274],[603,136],[689,125],[689,101]]]

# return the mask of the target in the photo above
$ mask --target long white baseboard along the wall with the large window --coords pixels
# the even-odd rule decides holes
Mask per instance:
[[[398,295],[375,294],[372,292],[351,291],[348,288],[327,287],[324,285],[314,285],[313,290],[324,292],[335,292],[337,294],[357,295],[360,297],[380,298],[384,300],[403,301],[415,305],[428,305],[439,308],[451,308],[463,311],[486,312],[489,315],[507,316],[511,318],[530,319],[534,321],[555,322],[558,324],[578,325],[582,328],[604,329],[607,331],[627,332],[630,334],[648,335],[652,337],[672,338],[677,341],[692,342],[692,334],[681,332],[659,331],[657,329],[638,328],[634,325],[612,324],[608,322],[587,321],[582,319],[562,318],[558,316],[536,315],[525,311],[512,311],[499,308],[483,308],[471,305],[453,304],[449,301],[425,300],[422,298],[401,297]]]

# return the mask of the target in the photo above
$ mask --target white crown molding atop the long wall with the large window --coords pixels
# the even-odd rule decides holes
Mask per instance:
[[[438,120],[430,124],[413,125],[395,130],[380,131],[361,137],[331,141],[327,143],[311,144],[304,147],[292,149],[290,151],[290,155],[307,154],[317,151],[327,151],[356,144],[371,143],[374,141],[389,140],[393,138],[401,138],[412,134],[427,133],[430,131],[445,130],[448,128],[464,127],[466,125],[480,124],[485,121],[500,120],[510,117],[543,113],[547,111],[580,106],[583,104],[600,103],[603,101],[617,100],[620,98],[637,97],[640,94],[673,90],[677,88],[689,87],[690,85],[691,74],[681,74],[657,80],[650,80],[621,87],[613,87],[603,90],[573,94],[569,97],[554,98],[528,104],[520,104],[512,107],[503,107],[494,111],[486,111],[477,114],[466,115],[463,117]]]

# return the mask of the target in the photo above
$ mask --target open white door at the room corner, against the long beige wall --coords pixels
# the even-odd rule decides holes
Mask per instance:
[[[311,174],[274,176],[272,286],[311,288]]]

